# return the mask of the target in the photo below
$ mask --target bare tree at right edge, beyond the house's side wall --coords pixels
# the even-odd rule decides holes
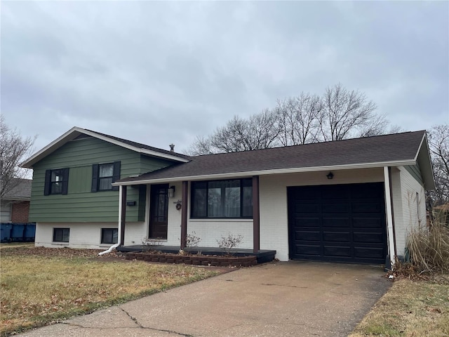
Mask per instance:
[[[429,204],[438,206],[449,203],[449,124],[440,124],[431,128],[429,150],[436,184],[436,189],[428,195]]]

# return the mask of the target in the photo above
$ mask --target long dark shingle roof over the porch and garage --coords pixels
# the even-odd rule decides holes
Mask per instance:
[[[139,177],[124,178],[119,183],[223,173],[414,161],[425,132],[190,157],[192,160],[188,163],[169,166]]]

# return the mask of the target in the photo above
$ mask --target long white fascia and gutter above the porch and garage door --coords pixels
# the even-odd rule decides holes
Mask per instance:
[[[217,173],[203,176],[184,176],[184,177],[173,177],[173,178],[160,178],[160,179],[146,179],[146,180],[135,180],[126,181],[123,183],[113,183],[113,186],[120,185],[141,185],[141,184],[154,184],[154,183],[170,183],[174,181],[192,181],[192,180],[216,180],[216,179],[226,179],[226,178],[243,178],[251,176],[266,176],[269,174],[282,174],[282,173],[304,173],[304,172],[317,172],[317,171],[332,171],[332,170],[350,170],[350,169],[373,169],[384,166],[404,166],[404,165],[415,165],[414,160],[404,160],[404,161],[384,161],[380,163],[370,163],[370,164],[347,164],[347,165],[337,165],[337,166],[315,166],[315,167],[301,167],[293,169],[274,169],[274,170],[264,170],[264,171],[246,171],[246,172],[234,172],[234,173]]]

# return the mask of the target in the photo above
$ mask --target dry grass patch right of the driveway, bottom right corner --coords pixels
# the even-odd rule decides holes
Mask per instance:
[[[399,279],[349,337],[449,336],[449,276]]]

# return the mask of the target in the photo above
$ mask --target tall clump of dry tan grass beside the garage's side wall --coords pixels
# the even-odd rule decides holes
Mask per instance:
[[[410,263],[420,273],[449,270],[449,227],[441,221],[414,228],[407,237]]]

